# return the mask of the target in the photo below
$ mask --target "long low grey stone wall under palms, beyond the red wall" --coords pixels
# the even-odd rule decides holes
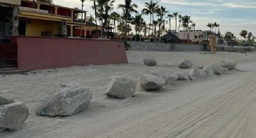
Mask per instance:
[[[128,41],[129,50],[141,51],[201,51],[203,46],[193,44],[170,44]]]

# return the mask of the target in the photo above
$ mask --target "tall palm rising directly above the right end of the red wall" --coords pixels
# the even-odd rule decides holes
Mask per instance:
[[[137,13],[137,11],[135,10],[135,8],[138,8],[138,5],[135,3],[132,3],[133,0],[124,0],[125,4],[119,4],[118,8],[122,8],[123,9],[123,13],[125,13],[125,40],[127,41],[127,32],[128,32],[128,16],[131,13]]]

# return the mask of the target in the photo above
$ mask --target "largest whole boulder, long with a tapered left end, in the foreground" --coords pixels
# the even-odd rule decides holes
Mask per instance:
[[[71,86],[62,89],[37,110],[38,115],[70,116],[86,109],[92,99],[92,91],[86,87]]]

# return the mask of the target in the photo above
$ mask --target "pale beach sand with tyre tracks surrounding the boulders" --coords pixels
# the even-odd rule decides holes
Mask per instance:
[[[127,65],[89,65],[86,67],[41,70],[28,75],[0,77],[0,93],[24,101],[30,116],[12,137],[256,137],[256,54],[221,52],[127,52]],[[143,65],[152,56],[156,67]],[[167,73],[184,58],[194,66],[223,59],[234,59],[243,71],[195,81],[178,81],[158,92],[136,89],[136,97],[118,100],[104,94],[113,76]],[[188,71],[188,70],[183,70]],[[74,116],[48,118],[34,113],[37,105],[57,92],[61,85],[78,84],[93,91],[87,110]]]

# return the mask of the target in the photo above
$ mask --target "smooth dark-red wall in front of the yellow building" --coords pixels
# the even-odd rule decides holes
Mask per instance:
[[[123,41],[18,36],[16,42],[20,69],[127,63]]]

